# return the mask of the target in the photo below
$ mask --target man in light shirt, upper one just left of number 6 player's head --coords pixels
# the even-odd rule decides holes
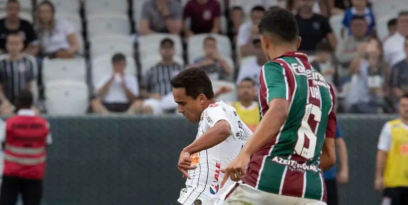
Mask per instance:
[[[264,17],[264,13],[265,8],[263,6],[253,7],[250,16],[251,20],[239,26],[236,46],[240,57],[246,57],[253,54],[251,40],[259,35],[258,24]]]

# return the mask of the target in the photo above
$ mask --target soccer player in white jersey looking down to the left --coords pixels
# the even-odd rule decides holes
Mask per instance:
[[[224,192],[220,169],[238,155],[252,131],[233,107],[216,102],[211,81],[202,69],[184,70],[171,84],[179,113],[199,125],[196,139],[180,154],[178,168],[187,180],[173,205],[213,205]]]

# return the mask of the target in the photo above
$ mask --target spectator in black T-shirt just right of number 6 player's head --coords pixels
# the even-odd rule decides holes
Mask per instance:
[[[299,50],[310,52],[316,50],[316,45],[327,39],[332,47],[336,47],[337,39],[327,18],[313,12],[314,0],[298,0],[299,13],[295,16],[299,24],[299,36],[302,43]]]

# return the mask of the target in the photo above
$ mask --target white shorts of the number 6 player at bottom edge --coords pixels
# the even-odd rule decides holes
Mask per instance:
[[[232,184],[214,205],[327,205],[324,202],[272,194],[240,182]]]

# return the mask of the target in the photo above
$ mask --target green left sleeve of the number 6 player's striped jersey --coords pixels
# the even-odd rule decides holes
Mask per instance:
[[[261,73],[261,84],[265,83],[267,89],[268,103],[275,98],[283,98],[290,101],[292,97],[290,79],[293,76],[290,73],[289,67],[280,60],[276,62],[269,62],[264,65]],[[263,78],[263,79],[262,79]]]

